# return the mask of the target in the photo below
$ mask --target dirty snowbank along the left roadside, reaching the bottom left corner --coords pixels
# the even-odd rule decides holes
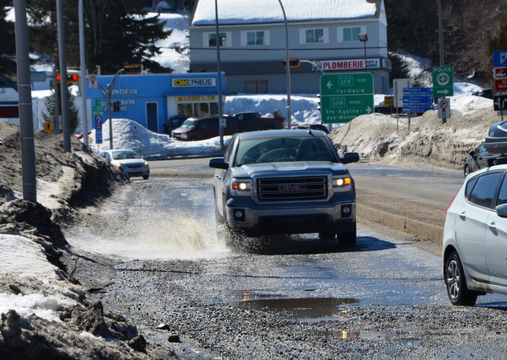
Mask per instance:
[[[62,140],[35,132],[38,203],[25,201],[19,127],[0,122],[0,358],[171,358],[122,316],[89,303],[74,277],[78,260],[91,260],[60,226],[127,179],[75,138],[63,152]]]

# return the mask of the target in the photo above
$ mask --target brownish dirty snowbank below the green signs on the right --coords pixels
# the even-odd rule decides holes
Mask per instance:
[[[418,167],[424,162],[458,170],[468,151],[484,141],[489,127],[500,117],[492,107],[465,114],[455,110],[451,114],[442,124],[437,111],[426,111],[411,118],[410,131],[406,117],[364,115],[330,136],[343,151],[359,152],[361,159],[407,167]]]

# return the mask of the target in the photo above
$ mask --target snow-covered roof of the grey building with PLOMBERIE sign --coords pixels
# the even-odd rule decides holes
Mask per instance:
[[[219,24],[283,22],[277,0],[218,1]],[[378,16],[382,0],[282,0],[287,21],[362,19]],[[215,0],[198,0],[192,25],[215,23]]]

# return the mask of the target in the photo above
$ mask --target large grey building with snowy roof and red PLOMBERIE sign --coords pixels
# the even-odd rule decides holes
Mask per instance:
[[[221,70],[227,90],[285,93],[285,22],[277,0],[217,0]],[[387,20],[383,0],[282,0],[289,57],[324,72],[374,75],[375,93],[388,92]],[[359,34],[367,34],[367,42]],[[365,50],[366,45],[366,50]],[[366,55],[365,55],[366,53]],[[215,0],[198,0],[190,26],[190,71],[214,72]],[[320,71],[302,62],[291,69],[291,92],[318,93]]]

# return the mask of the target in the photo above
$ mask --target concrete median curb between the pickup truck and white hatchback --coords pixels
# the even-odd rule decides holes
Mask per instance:
[[[427,237],[436,242],[442,242],[442,238],[444,237],[444,228],[440,226],[427,224],[400,215],[389,214],[359,204],[357,204],[356,212],[357,218],[366,218],[414,235]]]

